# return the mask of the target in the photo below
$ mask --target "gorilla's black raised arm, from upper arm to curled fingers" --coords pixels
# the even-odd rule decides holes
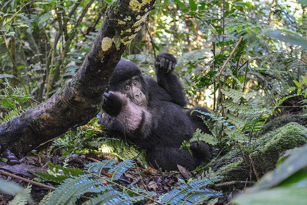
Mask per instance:
[[[183,107],[187,101],[178,76],[173,72],[176,63],[177,59],[172,54],[159,53],[154,62],[155,73],[159,86],[168,91],[174,103]]]

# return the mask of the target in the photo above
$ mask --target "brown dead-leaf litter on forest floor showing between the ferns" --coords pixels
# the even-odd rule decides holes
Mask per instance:
[[[67,162],[68,167],[83,169],[84,166],[92,162],[100,162],[105,159],[110,159],[110,156],[107,155],[93,155],[91,156],[78,156],[77,154],[70,156],[70,160]],[[49,157],[49,156],[35,156],[29,155],[23,157],[19,160],[20,164],[9,165],[4,162],[0,162],[0,177],[6,181],[11,181],[16,184],[19,184],[23,187],[32,184],[31,197],[34,201],[34,204],[38,204],[39,201],[46,195],[50,190],[55,190],[58,184],[54,182],[42,182],[35,183],[35,171],[42,173],[47,173],[48,164],[62,165],[64,160],[59,157]],[[161,194],[168,193],[179,185],[182,185],[182,179],[185,179],[183,175],[190,173],[178,171],[174,172],[159,172],[154,169],[144,169],[140,165],[135,164],[132,168],[129,168],[121,178],[118,180],[118,184],[123,186],[136,185],[142,189],[148,191],[156,192],[156,198]],[[200,175],[189,175],[193,179],[200,177]],[[187,176],[186,176],[187,177]],[[238,192],[242,191],[242,187],[247,186],[246,184],[239,184],[239,188],[236,188],[235,185],[223,185],[215,184],[212,187],[207,187],[209,189],[214,189],[216,191],[221,191],[224,195],[219,197],[217,205],[227,204],[230,199]],[[1,193],[0,205],[8,204],[13,198],[13,195]],[[77,204],[82,204],[84,199],[80,198],[77,201]],[[150,204],[150,202],[144,202],[144,204]]]

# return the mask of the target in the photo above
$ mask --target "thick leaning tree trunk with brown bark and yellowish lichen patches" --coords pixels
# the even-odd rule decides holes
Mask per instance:
[[[46,102],[0,125],[0,145],[15,154],[25,154],[95,117],[117,62],[146,21],[153,3],[114,0],[75,76]]]

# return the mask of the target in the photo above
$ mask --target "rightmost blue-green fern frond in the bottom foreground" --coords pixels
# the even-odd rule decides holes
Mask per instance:
[[[201,187],[213,184],[215,182],[218,182],[219,180],[220,179],[218,177],[212,177],[211,179],[204,178],[201,180],[193,180],[189,184],[183,184],[181,186],[178,186],[178,188],[173,189],[171,192],[164,195],[161,201],[165,204],[180,204],[183,201],[185,201],[185,204],[191,204],[192,202],[186,200],[188,196],[192,196],[195,190],[198,191]],[[198,194],[201,194],[202,197],[221,195],[220,192],[210,191],[209,189],[199,191]]]

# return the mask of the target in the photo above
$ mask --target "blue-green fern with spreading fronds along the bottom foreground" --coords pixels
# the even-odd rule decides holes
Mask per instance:
[[[131,160],[123,161],[114,165],[116,161],[104,160],[101,163],[91,163],[86,166],[86,174],[80,174],[72,178],[66,179],[60,184],[54,192],[46,195],[40,202],[40,205],[68,205],[74,204],[77,198],[84,193],[98,193],[94,195],[86,204],[90,205],[115,205],[125,204],[130,205],[145,199],[152,200],[155,204],[161,203],[178,203],[189,205],[196,201],[204,201],[208,197],[217,197],[220,192],[201,189],[203,186],[213,184],[219,181],[218,176],[213,176],[211,179],[190,180],[189,183],[173,189],[170,193],[164,194],[158,201],[153,200],[155,192],[140,189],[136,186],[130,188],[124,187],[116,183],[116,180],[127,171],[134,163]],[[112,177],[101,177],[106,170],[109,169],[107,176],[112,174]],[[95,177],[95,178],[94,178]],[[120,187],[118,190],[114,189]]]

